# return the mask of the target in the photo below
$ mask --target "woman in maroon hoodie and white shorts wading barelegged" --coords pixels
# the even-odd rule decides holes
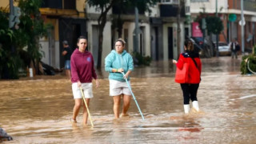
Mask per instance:
[[[95,79],[96,87],[98,87],[97,74],[94,70],[94,58],[89,51],[86,50],[87,39],[83,36],[78,38],[78,49],[74,50],[71,55],[71,82],[72,91],[74,96],[74,109],[71,122],[76,123],[76,118],[80,107],[82,106],[82,94],[80,87],[82,87],[83,93],[86,97],[87,106],[89,106],[90,98],[93,98],[92,92],[92,80]],[[86,105],[83,105],[83,124],[87,123],[87,110]]]

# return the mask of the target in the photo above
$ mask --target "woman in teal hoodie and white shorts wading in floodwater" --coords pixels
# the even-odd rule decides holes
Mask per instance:
[[[121,98],[123,99],[121,116],[127,115],[126,112],[130,106],[131,93],[125,78],[130,83],[130,73],[134,70],[134,61],[132,56],[124,50],[125,44],[126,42],[122,38],[118,38],[115,42],[115,50],[112,50],[105,58],[105,70],[110,73],[110,96],[114,100],[115,118],[119,118]]]

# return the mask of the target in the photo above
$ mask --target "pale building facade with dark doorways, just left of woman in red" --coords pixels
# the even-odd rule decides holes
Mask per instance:
[[[150,16],[151,57],[154,60],[177,59],[183,51],[183,42],[190,36],[190,0],[161,0],[152,8]],[[178,9],[180,18],[178,20]],[[178,22],[179,21],[179,22]],[[178,27],[179,23],[179,27]],[[178,50],[178,36],[180,42]]]

